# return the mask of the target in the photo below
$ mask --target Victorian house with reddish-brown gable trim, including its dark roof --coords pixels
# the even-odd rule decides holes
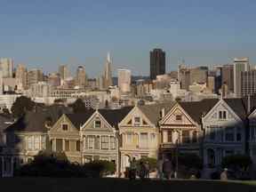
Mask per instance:
[[[160,121],[160,154],[173,158],[179,151],[202,156],[201,116],[209,111],[218,100],[177,102]]]

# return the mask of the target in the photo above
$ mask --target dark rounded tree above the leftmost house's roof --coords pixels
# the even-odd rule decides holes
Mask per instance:
[[[14,117],[23,116],[26,111],[31,111],[36,103],[25,96],[20,96],[12,105],[11,111]]]

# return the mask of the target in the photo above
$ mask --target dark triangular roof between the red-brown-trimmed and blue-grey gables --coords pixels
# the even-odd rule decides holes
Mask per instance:
[[[206,115],[218,101],[218,99],[204,99],[200,101],[179,102],[179,105],[197,124],[201,124],[201,117]]]

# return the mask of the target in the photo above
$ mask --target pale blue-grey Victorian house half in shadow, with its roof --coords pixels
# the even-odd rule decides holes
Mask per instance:
[[[224,156],[246,154],[246,119],[242,99],[221,99],[203,116],[205,168],[217,168]]]

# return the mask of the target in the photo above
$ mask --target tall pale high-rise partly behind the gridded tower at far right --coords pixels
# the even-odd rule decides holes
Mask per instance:
[[[234,59],[234,92],[241,97],[241,73],[249,70],[249,58]]]

